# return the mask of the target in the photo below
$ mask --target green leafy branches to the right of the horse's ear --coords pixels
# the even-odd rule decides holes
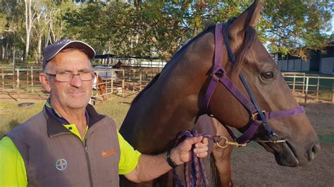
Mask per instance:
[[[310,51],[323,50],[330,43],[330,11],[333,1],[267,1],[263,39],[272,52],[307,58]]]

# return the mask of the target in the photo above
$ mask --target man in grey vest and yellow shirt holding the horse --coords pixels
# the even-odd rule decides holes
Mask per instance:
[[[39,80],[50,98],[39,114],[0,141],[0,186],[118,186],[118,174],[150,181],[208,150],[206,138],[187,138],[161,155],[142,155],[118,134],[113,120],[88,105],[95,51],[63,40],[44,50]]]

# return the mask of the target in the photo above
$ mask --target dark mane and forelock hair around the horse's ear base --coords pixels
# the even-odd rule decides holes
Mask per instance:
[[[228,20],[228,23],[226,27],[224,28],[224,32],[228,32],[229,27],[233,23],[234,20],[235,18]],[[249,53],[247,53],[247,51],[251,49],[251,46],[254,43],[255,39],[256,39],[256,31],[254,27],[252,26],[246,27],[242,44],[234,54],[235,64],[232,65],[232,69],[229,71],[231,77],[235,77],[239,75],[239,72],[242,67],[242,63],[245,63],[245,60],[248,58]]]

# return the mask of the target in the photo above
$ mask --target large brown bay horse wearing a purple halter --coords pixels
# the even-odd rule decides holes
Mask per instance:
[[[192,129],[199,116],[209,114],[243,133],[233,137],[237,143],[259,141],[279,165],[310,165],[320,150],[318,137],[256,37],[259,13],[254,1],[237,18],[209,27],[175,53],[132,101],[120,127],[125,140],[141,153],[163,153],[179,131]],[[206,125],[203,129],[213,129]],[[171,179],[171,172],[146,183],[121,177],[120,185],[173,186]]]

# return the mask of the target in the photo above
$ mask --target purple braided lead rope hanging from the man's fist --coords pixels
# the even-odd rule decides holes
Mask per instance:
[[[187,137],[199,136],[201,134],[197,134],[197,131],[192,129],[191,131],[180,131],[178,137],[175,140],[174,147],[178,146],[178,144],[183,141],[183,139]],[[218,143],[221,141],[221,136],[212,136],[211,134],[202,134],[203,138],[209,138],[214,143]],[[192,146],[192,150],[194,150],[194,146]],[[190,170],[191,165],[191,170]],[[203,159],[197,157],[192,151],[192,160],[190,162],[184,163],[184,174],[185,174],[185,186],[202,186],[202,182],[204,186],[209,187],[209,180],[206,177],[206,173],[204,171],[204,163]],[[174,180],[180,187],[184,187],[180,177],[178,176],[176,169],[173,169]]]

